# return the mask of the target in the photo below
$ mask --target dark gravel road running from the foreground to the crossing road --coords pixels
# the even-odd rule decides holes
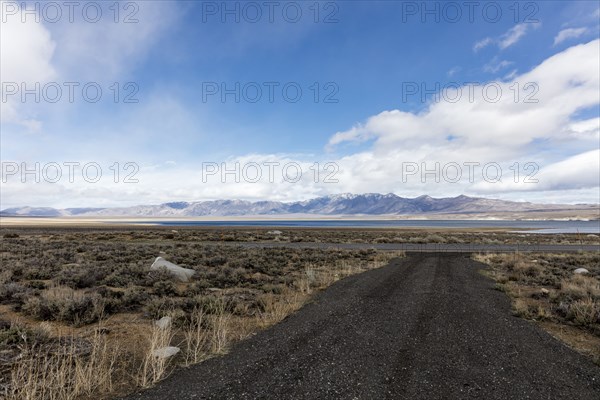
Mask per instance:
[[[600,399],[600,368],[513,317],[481,268],[410,254],[129,399]]]

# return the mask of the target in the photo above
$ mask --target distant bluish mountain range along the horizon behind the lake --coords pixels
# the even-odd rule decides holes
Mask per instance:
[[[202,216],[268,216],[268,215],[441,215],[530,213],[551,211],[597,211],[598,205],[533,204],[478,197],[458,196],[414,199],[395,194],[339,194],[306,201],[250,202],[244,200],[214,200],[171,202],[159,205],[139,205],[120,208],[20,207],[0,211],[0,216],[27,217],[202,217]]]

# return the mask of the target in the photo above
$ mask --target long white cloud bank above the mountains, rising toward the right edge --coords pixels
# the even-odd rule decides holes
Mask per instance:
[[[33,206],[65,207],[215,198],[291,201],[340,192],[395,192],[404,196],[427,193],[438,197],[459,194],[498,195],[503,198],[524,196],[531,201],[597,202],[600,119],[580,120],[577,115],[582,110],[597,107],[599,103],[599,44],[600,40],[595,40],[571,47],[548,58],[533,70],[515,75],[510,81],[496,82],[496,87],[502,90],[497,102],[486,101],[481,86],[462,87],[463,95],[458,101],[444,100],[454,97],[454,93],[448,91],[440,102],[427,105],[421,112],[383,111],[364,123],[335,133],[329,140],[328,147],[333,150],[348,142],[362,143],[366,149],[360,152],[343,157],[336,157],[333,153],[318,157],[250,154],[223,160],[230,166],[236,162],[261,164],[273,161],[280,165],[295,162],[303,172],[297,183],[282,182],[281,169],[277,170],[274,182],[269,182],[266,177],[257,183],[243,180],[240,183],[221,183],[219,179],[204,182],[201,165],[180,162],[179,159],[177,164],[168,161],[175,159],[168,154],[169,142],[175,139],[165,135],[164,142],[157,144],[165,150],[164,159],[156,160],[155,165],[140,162],[137,184],[115,183],[110,179],[90,184],[79,179],[74,184],[34,185],[11,180],[3,184],[2,207],[24,205],[24,199]],[[526,89],[529,83],[537,85],[537,93],[533,94],[531,88]],[[518,101],[515,101],[516,87],[519,88]],[[471,91],[472,99],[469,98]],[[490,92],[493,90],[490,89]],[[538,101],[524,103],[526,95]],[[134,125],[125,125],[124,131],[131,137],[120,142],[123,146],[114,149],[115,154],[126,153],[128,143],[135,144],[147,131],[156,127],[161,115],[164,115],[160,110],[168,110],[174,115],[170,120],[175,121],[175,125],[161,125],[156,129],[158,132],[178,132],[187,125],[195,124],[185,109],[169,98],[143,105],[137,109],[139,115],[132,116],[132,124],[140,117],[145,123],[137,130]],[[183,125],[179,125],[181,123]],[[93,141],[89,147],[95,149],[97,143]],[[179,146],[179,143],[175,144],[175,147]],[[548,148],[552,151],[547,151]],[[81,151],[81,147],[76,150]],[[338,183],[323,181],[327,171],[320,171],[319,179],[315,180],[314,168],[311,168],[315,161],[319,161],[321,168],[325,162],[334,162],[339,167],[335,174]],[[451,162],[462,166],[463,176],[456,183],[444,181],[443,177],[436,181],[435,176],[423,171],[423,167],[435,169],[436,163],[442,169]],[[465,163],[468,162],[480,163],[473,181],[467,175]],[[489,183],[482,179],[481,165],[491,162],[501,166],[501,182]],[[513,171],[510,167],[515,162],[539,165],[539,183],[528,184],[531,186],[523,186],[522,182],[512,184]],[[403,167],[414,166],[413,163],[416,163],[419,172],[403,179]],[[108,163],[103,164],[107,177],[111,174],[109,166]],[[157,187],[160,190],[156,190]],[[52,201],[56,203],[51,204]]]

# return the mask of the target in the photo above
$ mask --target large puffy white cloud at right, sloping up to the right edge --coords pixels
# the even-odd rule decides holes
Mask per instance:
[[[342,170],[357,182],[368,181],[377,187],[394,180],[402,171],[398,166],[406,162],[426,162],[433,168],[435,162],[498,163],[505,173],[515,161],[532,162],[546,167],[540,174],[540,185],[530,185],[528,190],[563,190],[598,185],[598,179],[589,174],[585,179],[574,179],[569,174],[557,174],[560,168],[583,171],[597,157],[598,119],[577,120],[581,110],[598,105],[600,78],[600,41],[572,47],[550,57],[525,74],[506,82],[494,82],[488,86],[461,87],[458,91],[447,90],[440,101],[429,104],[420,113],[401,110],[384,111],[358,124],[348,131],[331,137],[329,146],[345,141],[374,141],[367,153],[354,154],[340,160]],[[512,89],[511,89],[512,88]],[[519,88],[517,93],[516,88]],[[492,96],[490,93],[502,93]],[[460,95],[459,95],[460,94]],[[472,94],[472,97],[470,95]],[[454,101],[454,99],[458,99]],[[453,101],[448,101],[453,100]],[[581,155],[573,155],[561,163],[544,152],[552,144],[563,147],[566,140],[580,143]],[[587,149],[585,149],[587,147]],[[367,161],[368,160],[368,161]],[[367,173],[363,172],[368,162]],[[578,168],[574,166],[578,165]],[[594,164],[592,164],[594,165]],[[422,169],[422,168],[420,168]],[[381,181],[374,179],[378,173],[388,171]],[[550,180],[552,177],[552,180]],[[542,180],[546,180],[543,182]],[[405,182],[403,182],[405,183]],[[406,182],[409,183],[409,182]],[[406,183],[402,186],[406,188]],[[415,182],[415,187],[418,183]],[[430,182],[420,185],[422,192],[438,189],[453,190],[456,185]],[[464,183],[464,182],[463,182]],[[484,182],[486,183],[486,182]],[[514,186],[466,185],[462,190],[498,192],[512,190]],[[587,185],[587,186],[586,186]],[[389,186],[389,184],[388,184]],[[502,190],[501,190],[502,189]],[[521,190],[521,189],[519,189]]]

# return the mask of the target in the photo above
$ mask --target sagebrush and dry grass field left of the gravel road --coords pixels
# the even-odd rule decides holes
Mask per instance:
[[[43,229],[0,237],[0,398],[108,399],[299,309],[401,253],[242,248],[192,230]],[[150,271],[161,256],[189,282]]]

